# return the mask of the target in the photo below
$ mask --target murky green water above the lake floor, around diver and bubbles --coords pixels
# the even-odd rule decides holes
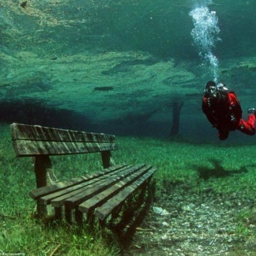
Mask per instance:
[[[218,19],[218,80],[236,91],[246,117],[255,106],[253,0],[1,0],[1,102],[74,111],[103,131],[166,136],[178,99],[181,134],[194,122],[189,137],[202,126],[211,137],[201,97],[215,75],[191,36],[196,7]]]

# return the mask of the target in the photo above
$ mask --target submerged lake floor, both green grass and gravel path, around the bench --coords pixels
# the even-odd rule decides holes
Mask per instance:
[[[179,253],[175,245],[177,242],[172,243],[172,236],[169,244],[166,244],[166,239],[161,240],[164,233],[177,225],[178,216],[184,218],[182,222],[190,221],[192,225],[200,222],[201,215],[206,215],[208,222],[215,222],[216,227],[209,233],[207,229],[202,230],[196,226],[191,228],[195,232],[194,236],[204,237],[203,241],[194,242],[194,248],[189,249],[181,243],[178,249],[196,254],[201,244],[207,248],[206,244],[216,239],[218,251],[224,252],[227,244],[229,247],[226,249],[230,255],[254,253],[256,160],[250,154],[255,150],[255,145],[219,146],[189,141],[118,137],[119,150],[114,152],[116,163],[144,162],[157,166],[159,169],[154,176],[156,194],[153,205],[161,206],[170,213],[158,216],[151,208],[150,215],[146,216],[141,225],[142,230],[154,230],[154,234],[138,228],[136,239],[126,247],[112,232],[106,231],[102,235],[97,226],[81,230],[65,222],[52,223],[35,219],[35,202],[28,196],[35,186],[32,160],[15,158],[7,125],[1,125],[1,134],[4,136],[1,138],[0,245],[4,252],[49,255],[60,245],[57,255],[119,255],[121,252],[140,255],[144,251],[161,255]],[[99,153],[51,159],[54,172],[61,180],[102,168]],[[173,204],[169,205],[169,202]],[[207,207],[208,202],[215,202],[216,205]],[[195,209],[190,209],[191,206]],[[175,213],[177,209],[178,215]],[[190,214],[193,215],[190,217]],[[162,226],[163,220],[169,223],[168,230]],[[207,220],[201,222],[209,228]],[[179,232],[181,230],[189,236],[189,229],[182,224]],[[179,232],[173,236],[179,236]]]

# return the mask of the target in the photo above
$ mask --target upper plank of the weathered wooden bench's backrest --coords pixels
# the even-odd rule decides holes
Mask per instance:
[[[11,127],[12,140],[46,140],[74,142],[115,142],[114,135],[78,132],[56,129],[40,125],[13,123]]]

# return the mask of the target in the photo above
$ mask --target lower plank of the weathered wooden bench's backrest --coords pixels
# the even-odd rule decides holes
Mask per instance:
[[[12,144],[17,157],[72,155],[117,150],[117,145],[110,142],[13,140]]]

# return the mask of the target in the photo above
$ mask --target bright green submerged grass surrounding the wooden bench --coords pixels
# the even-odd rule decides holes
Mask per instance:
[[[117,243],[102,238],[99,229],[77,229],[67,223],[48,225],[35,220],[35,206],[28,194],[35,187],[31,158],[15,158],[9,126],[0,126],[0,252],[25,252],[31,255],[56,254],[114,255]],[[174,184],[185,183],[195,193],[211,189],[220,195],[241,191],[255,197],[256,145],[219,147],[152,138],[118,137],[116,163],[147,163],[157,166],[157,197],[171,194]],[[100,154],[52,157],[60,180],[101,169]],[[237,233],[246,236],[251,212],[236,216]]]

